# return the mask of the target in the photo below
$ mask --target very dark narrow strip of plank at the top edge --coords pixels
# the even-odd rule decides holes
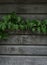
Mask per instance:
[[[47,2],[47,0],[0,0],[0,2],[2,3],[2,2],[14,2],[14,3],[36,3],[36,2],[38,2],[38,3],[44,3],[44,2]]]

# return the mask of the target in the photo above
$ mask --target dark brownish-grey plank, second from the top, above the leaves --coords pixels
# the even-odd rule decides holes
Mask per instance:
[[[0,5],[0,13],[47,13],[47,4],[4,4]]]

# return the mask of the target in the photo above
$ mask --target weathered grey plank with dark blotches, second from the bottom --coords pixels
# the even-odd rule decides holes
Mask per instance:
[[[47,46],[0,46],[0,54],[47,55]]]

